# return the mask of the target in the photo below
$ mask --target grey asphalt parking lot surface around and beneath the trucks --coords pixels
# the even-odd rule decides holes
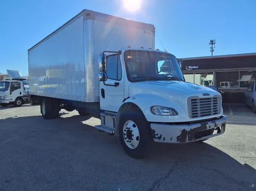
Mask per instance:
[[[226,132],[205,142],[155,143],[127,156],[99,120],[61,110],[44,120],[39,106],[0,107],[0,190],[254,190],[256,114],[224,105]]]

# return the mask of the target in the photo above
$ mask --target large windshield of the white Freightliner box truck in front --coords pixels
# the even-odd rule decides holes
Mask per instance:
[[[130,82],[149,80],[182,80],[176,57],[163,52],[127,50],[124,52],[127,78]]]

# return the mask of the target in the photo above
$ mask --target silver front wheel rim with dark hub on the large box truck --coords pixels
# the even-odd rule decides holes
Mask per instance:
[[[128,120],[127,122],[124,123],[123,139],[126,145],[130,149],[135,149],[139,145],[139,142],[140,142],[139,129],[137,125],[131,120]]]

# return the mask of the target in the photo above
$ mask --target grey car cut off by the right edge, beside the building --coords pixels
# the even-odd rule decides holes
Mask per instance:
[[[251,106],[256,113],[256,82],[250,82],[245,91],[245,106]]]

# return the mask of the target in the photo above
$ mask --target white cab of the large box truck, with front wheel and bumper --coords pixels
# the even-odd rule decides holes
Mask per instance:
[[[225,132],[220,93],[185,82],[173,54],[144,48],[104,51],[99,81],[102,112],[96,128],[119,135],[129,156],[147,152],[151,137],[187,143]]]

